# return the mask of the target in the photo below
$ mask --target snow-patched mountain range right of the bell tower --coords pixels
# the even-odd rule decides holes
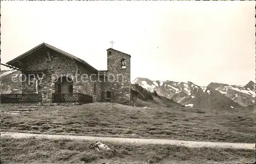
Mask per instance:
[[[254,108],[255,83],[250,81],[245,86],[210,83],[199,86],[193,82],[152,81],[136,78],[132,84],[139,84],[149,91],[156,91],[160,96],[172,99],[187,107],[196,108]]]

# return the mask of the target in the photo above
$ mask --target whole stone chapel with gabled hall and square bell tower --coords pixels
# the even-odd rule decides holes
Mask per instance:
[[[139,92],[131,85],[131,55],[113,48],[106,55],[108,68],[98,71],[82,59],[41,43],[6,64],[22,71],[22,92],[42,94],[43,103],[52,102],[55,93],[83,93],[92,96],[93,102],[136,106]]]

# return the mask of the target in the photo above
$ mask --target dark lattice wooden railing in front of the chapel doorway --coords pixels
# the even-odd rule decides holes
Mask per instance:
[[[83,93],[53,93],[53,103],[92,103],[93,97]]]

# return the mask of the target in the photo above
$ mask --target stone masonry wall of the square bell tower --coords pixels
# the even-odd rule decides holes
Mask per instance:
[[[111,51],[111,54],[109,53]],[[104,91],[114,92],[116,103],[130,105],[130,85],[131,85],[131,57],[114,49],[109,49],[108,72]],[[121,60],[126,60],[126,68],[121,68]]]

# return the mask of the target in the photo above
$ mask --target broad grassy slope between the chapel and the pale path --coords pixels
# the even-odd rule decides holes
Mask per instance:
[[[92,103],[49,106],[25,114],[7,112],[16,108],[2,104],[2,131],[255,143],[255,113],[245,110]]]

